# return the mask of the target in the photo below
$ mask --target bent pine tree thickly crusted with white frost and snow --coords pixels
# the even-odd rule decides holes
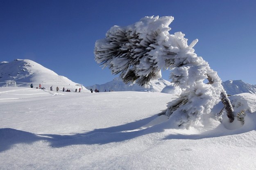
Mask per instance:
[[[111,27],[106,38],[95,43],[96,62],[109,67],[112,74],[120,74],[125,83],[142,86],[161,78],[161,69],[171,69],[172,82],[184,92],[168,104],[163,114],[175,119],[178,126],[196,124],[220,99],[232,122],[233,108],[217,72],[194,53],[197,39],[188,45],[181,32],[169,34],[173,19],[151,16],[126,27]],[[206,79],[208,83],[204,83]]]

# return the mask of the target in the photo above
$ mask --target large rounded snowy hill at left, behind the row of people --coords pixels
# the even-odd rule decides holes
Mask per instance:
[[[0,87],[10,86],[13,81],[16,82],[18,87],[29,87],[33,83],[34,88],[39,87],[39,84],[41,84],[42,87],[47,89],[50,89],[51,86],[54,89],[57,86],[61,89],[63,87],[68,89],[82,87],[84,92],[89,92],[79,83],[75,83],[64,76],[59,76],[52,70],[26,59],[0,63]]]

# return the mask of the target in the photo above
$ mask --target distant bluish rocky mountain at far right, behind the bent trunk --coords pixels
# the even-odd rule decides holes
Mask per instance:
[[[222,82],[222,85],[226,90],[227,94],[229,95],[240,94],[240,93],[256,94],[256,85],[251,85],[241,80],[225,81],[225,82]]]

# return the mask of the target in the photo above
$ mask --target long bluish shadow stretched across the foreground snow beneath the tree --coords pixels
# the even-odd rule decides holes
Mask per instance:
[[[92,144],[106,144],[112,142],[122,142],[129,139],[134,139],[138,136],[143,136],[151,133],[163,132],[165,129],[170,129],[170,122],[166,121],[150,128],[138,129],[147,123],[154,120],[157,115],[118,125],[109,128],[95,129],[90,132],[77,134],[33,134],[21,130],[2,128],[0,129],[0,152],[9,150],[12,145],[19,143],[32,144],[36,141],[47,141],[50,146],[54,148],[61,148],[69,145],[92,145]],[[255,127],[254,127],[255,129]],[[228,136],[232,134],[240,134],[248,132],[247,130],[224,130],[220,124],[217,128],[202,132],[200,134],[169,134],[163,140],[171,139],[204,139],[219,136]]]

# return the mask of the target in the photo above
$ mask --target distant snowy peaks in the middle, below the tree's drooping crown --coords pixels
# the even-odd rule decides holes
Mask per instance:
[[[109,91],[150,91],[150,92],[161,92],[165,87],[169,87],[169,89],[176,90],[176,93],[179,93],[180,89],[177,87],[174,87],[170,81],[166,81],[163,78],[159,78],[157,80],[150,81],[150,84],[148,85],[149,88],[141,87],[137,84],[129,85],[122,82],[121,78],[114,78],[113,81],[110,81],[108,83],[105,83],[103,85],[92,85],[87,86],[87,89],[99,89],[100,92],[104,92],[105,90],[107,92]],[[166,91],[165,91],[166,92]],[[174,91],[173,91],[174,92]],[[173,93],[172,93],[173,94]]]

